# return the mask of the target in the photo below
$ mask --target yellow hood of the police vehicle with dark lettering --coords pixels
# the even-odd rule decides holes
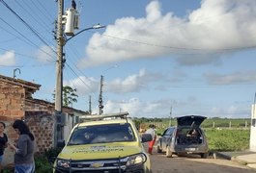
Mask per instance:
[[[67,160],[99,160],[123,158],[143,152],[137,142],[114,142],[65,146],[58,158]]]

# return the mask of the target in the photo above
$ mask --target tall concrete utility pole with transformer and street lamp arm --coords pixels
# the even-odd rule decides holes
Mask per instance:
[[[71,40],[71,38],[81,34],[84,31],[92,30],[92,29],[100,29],[105,26],[101,26],[100,24],[94,25],[93,27],[83,29],[78,32],[76,35],[73,30],[78,29],[79,24],[79,15],[77,15],[76,4],[75,1],[71,1],[71,8],[69,8],[64,15],[64,0],[58,1],[58,23],[57,23],[57,62],[56,62],[56,88],[55,88],[55,138],[54,138],[54,146],[57,146],[58,140],[63,140],[63,129],[64,125],[62,124],[62,119],[64,119],[65,114],[62,113],[63,108],[63,67],[64,67],[64,53],[63,47],[65,44]],[[64,31],[65,26],[65,31]],[[70,38],[64,37],[64,33],[66,36]]]

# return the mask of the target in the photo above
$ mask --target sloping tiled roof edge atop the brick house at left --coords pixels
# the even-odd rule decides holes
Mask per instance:
[[[27,81],[20,80],[20,79],[14,79],[14,78],[10,78],[10,77],[3,76],[3,75],[0,75],[0,81],[10,83],[15,86],[25,87],[32,93],[34,93],[36,90],[39,90],[39,88],[41,86],[41,85],[38,85],[35,83],[27,82]]]

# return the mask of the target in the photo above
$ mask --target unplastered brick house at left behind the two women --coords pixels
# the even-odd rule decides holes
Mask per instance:
[[[71,128],[79,121],[84,111],[64,107],[61,129],[57,130],[54,103],[33,98],[33,94],[41,85],[0,75],[0,121],[6,124],[5,133],[10,142],[14,142],[13,123],[15,119],[23,119],[34,134],[37,152],[54,147],[56,136],[67,139]],[[58,134],[59,133],[59,134]],[[7,148],[3,165],[14,162],[14,153]]]

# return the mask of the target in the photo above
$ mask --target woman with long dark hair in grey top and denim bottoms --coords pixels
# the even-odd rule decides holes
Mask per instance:
[[[17,119],[14,121],[13,128],[18,135],[16,144],[9,144],[14,151],[14,172],[15,173],[34,173],[35,172],[35,137],[31,134],[24,121]]]

